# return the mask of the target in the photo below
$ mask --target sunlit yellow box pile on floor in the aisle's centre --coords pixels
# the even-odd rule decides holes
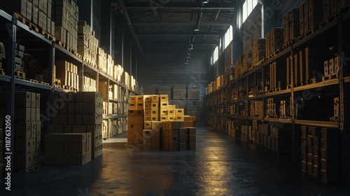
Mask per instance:
[[[165,123],[174,123],[174,126],[177,125],[174,129],[177,130],[182,127],[194,127],[193,117],[188,116],[184,121],[183,109],[176,109],[174,105],[169,105],[168,98],[167,94],[130,96],[128,144],[139,144],[145,150],[158,150],[160,149],[160,141],[167,142],[169,138],[165,137],[172,135],[165,134],[165,128],[163,128],[162,132],[164,134],[160,138],[160,129]],[[179,132],[173,135],[179,137]],[[179,141],[174,140],[174,144],[178,144],[179,147]]]

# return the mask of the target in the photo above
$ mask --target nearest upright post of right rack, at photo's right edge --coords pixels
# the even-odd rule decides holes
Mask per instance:
[[[342,180],[346,183],[350,182],[350,159],[349,159],[349,102],[346,102],[344,97],[349,97],[350,94],[349,83],[344,83],[344,73],[346,73],[346,66],[344,60],[344,43],[346,41],[346,32],[343,26],[342,13],[338,16],[338,38],[339,38],[339,109],[340,109],[340,122],[339,128],[342,139]]]

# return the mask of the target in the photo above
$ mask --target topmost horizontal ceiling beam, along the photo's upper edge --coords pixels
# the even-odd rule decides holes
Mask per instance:
[[[236,3],[207,3],[205,6],[198,6],[198,3],[126,3],[127,9],[190,9],[190,10],[232,10]]]

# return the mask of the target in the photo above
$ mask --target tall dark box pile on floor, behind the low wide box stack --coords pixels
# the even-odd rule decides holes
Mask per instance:
[[[91,158],[102,155],[103,97],[99,92],[53,92],[49,133],[91,133]]]

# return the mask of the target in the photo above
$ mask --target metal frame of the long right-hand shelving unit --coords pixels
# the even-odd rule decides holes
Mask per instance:
[[[297,160],[297,152],[299,151],[298,148],[300,146],[297,146],[297,135],[300,134],[300,126],[306,125],[306,126],[314,126],[314,127],[327,127],[327,128],[335,128],[339,129],[342,132],[342,153],[345,159],[342,160],[343,170],[344,170],[344,176],[343,179],[346,179],[346,181],[350,181],[350,169],[348,169],[350,165],[350,159],[347,158],[347,155],[349,154],[349,141],[350,141],[350,134],[349,134],[349,102],[347,101],[346,97],[348,97],[348,91],[349,91],[349,83],[350,83],[350,76],[346,75],[349,74],[349,71],[347,73],[344,73],[343,66],[341,62],[343,62],[344,58],[344,50],[347,50],[349,52],[349,49],[345,49],[344,45],[345,43],[349,43],[349,28],[345,28],[344,21],[347,22],[349,25],[350,21],[350,12],[347,13],[339,13],[339,16],[337,19],[332,20],[328,22],[327,25],[323,25],[321,29],[317,29],[314,31],[314,33],[309,34],[305,38],[303,38],[300,41],[297,41],[297,43],[294,43],[293,45],[290,45],[288,48],[285,48],[281,51],[279,51],[278,54],[276,54],[274,57],[271,57],[270,59],[265,60],[265,62],[262,62],[262,64],[255,66],[253,69],[248,71],[247,73],[243,74],[243,76],[239,76],[238,78],[235,78],[234,80],[231,80],[226,85],[227,92],[231,93],[235,92],[237,94],[235,100],[233,100],[233,96],[231,97],[231,94],[228,94],[228,107],[231,105],[236,106],[235,116],[230,115],[228,113],[226,115],[226,118],[230,120],[237,120],[238,123],[235,123],[238,125],[238,129],[240,129],[240,125],[251,125],[251,122],[253,120],[257,120],[260,123],[269,123],[269,124],[281,124],[283,126],[292,127],[293,132],[293,160]],[[321,40],[321,41],[320,41]],[[347,42],[346,42],[347,41]],[[265,92],[265,73],[264,69],[269,69],[269,65],[274,62],[281,62],[281,60],[286,60],[288,58],[294,57],[294,54],[299,52],[300,50],[304,50],[304,48],[314,46],[317,47],[330,47],[338,45],[339,51],[335,51],[338,54],[343,54],[339,56],[339,75],[337,78],[332,78],[328,80],[320,81],[320,78],[318,80],[314,80],[314,83],[308,83],[303,85],[290,85],[289,87],[281,87],[281,90],[279,91],[273,91],[273,92]],[[344,59],[346,60],[346,59]],[[294,84],[294,60],[291,61],[290,65],[290,80],[291,83]],[[320,67],[323,66],[323,64],[319,65]],[[346,69],[346,67],[344,68]],[[261,76],[260,76],[261,71]],[[259,72],[259,73],[258,73]],[[257,77],[258,76],[258,77]],[[251,80],[249,80],[250,78]],[[252,81],[253,80],[253,81]],[[246,81],[246,83],[244,83]],[[256,94],[251,94],[250,96],[246,97],[245,92],[243,94],[239,93],[239,90],[237,89],[238,83],[243,83],[244,87],[246,87],[246,91],[248,92],[248,88],[255,87],[258,85],[258,83],[262,82],[262,93],[256,92]],[[251,84],[250,84],[251,83]],[[260,84],[259,83],[259,84]],[[250,84],[250,85],[249,85]],[[220,91],[217,90],[217,91]],[[215,114],[212,113],[213,107],[215,105],[213,104],[213,98],[215,97],[214,94],[217,94],[218,92],[214,91],[209,94],[207,94],[204,97],[204,107],[205,111],[207,111],[206,116],[214,116]],[[244,90],[245,91],[245,90]],[[310,116],[309,119],[303,118],[303,116],[300,117],[300,114],[297,114],[297,111],[294,111],[295,106],[297,106],[298,101],[295,100],[297,98],[301,97],[304,92],[311,93],[313,96],[318,97],[323,96],[325,99],[332,99],[333,97],[339,97],[340,104],[340,116],[339,116],[339,122],[332,122],[327,121],[325,118],[327,116],[320,113],[319,120],[315,120],[316,118],[314,116]],[[247,93],[248,94],[248,93]],[[239,96],[240,95],[240,96]],[[243,95],[243,96],[242,96]],[[273,98],[276,99],[277,103],[279,100],[285,100],[286,102],[291,103],[291,109],[290,109],[290,116],[284,117],[284,118],[267,118],[267,99]],[[291,99],[291,102],[290,102]],[[263,118],[256,118],[256,117],[250,117],[250,105],[252,102],[256,101],[262,101],[263,105]],[[305,102],[307,102],[306,100]],[[239,109],[237,109],[237,106],[245,102],[248,104],[247,106],[247,116],[240,116],[241,113]],[[275,103],[276,103],[275,102]],[[311,102],[309,102],[311,104]],[[332,105],[332,102],[330,102]],[[238,112],[237,112],[238,111]],[[328,116],[329,118],[330,116]],[[300,119],[299,119],[300,118]],[[246,121],[248,121],[246,123]],[[240,123],[239,123],[240,121]],[[258,124],[260,124],[258,123]],[[210,125],[210,124],[209,124]],[[299,128],[298,128],[299,127]],[[219,130],[220,131],[220,130]]]

